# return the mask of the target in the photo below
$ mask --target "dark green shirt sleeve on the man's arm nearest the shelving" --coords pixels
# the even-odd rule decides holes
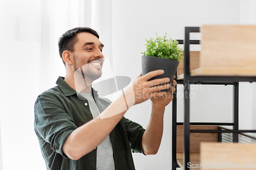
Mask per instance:
[[[142,136],[145,132],[145,129],[138,123],[135,123],[132,120],[127,119],[125,117],[123,117],[123,121],[126,127],[126,132],[130,142],[130,147],[132,152],[143,153],[141,143],[142,143]]]

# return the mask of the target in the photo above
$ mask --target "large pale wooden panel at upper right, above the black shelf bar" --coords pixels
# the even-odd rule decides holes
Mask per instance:
[[[199,67],[191,76],[256,76],[256,26],[204,25],[201,32]]]

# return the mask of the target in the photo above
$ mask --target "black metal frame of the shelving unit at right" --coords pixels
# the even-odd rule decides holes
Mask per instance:
[[[178,84],[185,84],[184,87],[184,122],[177,123],[177,95],[174,93],[173,99],[173,126],[172,126],[172,169],[179,167],[177,164],[177,125],[184,125],[184,148],[183,148],[183,165],[184,169],[189,169],[185,166],[189,162],[189,134],[190,133],[233,133],[233,142],[238,142],[236,133],[241,132],[256,132],[256,130],[239,130],[239,82],[256,82],[256,77],[205,77],[205,76],[190,76],[190,44],[200,44],[200,40],[190,40],[190,33],[199,33],[199,27],[185,27],[185,40],[178,40],[179,44],[184,44],[184,80],[177,80]],[[190,123],[189,118],[189,84],[218,84],[218,85],[233,85],[233,122],[232,123]],[[190,125],[214,125],[214,126],[232,126],[232,130],[190,130]]]

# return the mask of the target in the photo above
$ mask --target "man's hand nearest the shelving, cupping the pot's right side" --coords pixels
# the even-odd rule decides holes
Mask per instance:
[[[175,77],[174,77],[175,79]],[[177,82],[173,80],[170,89],[167,93],[164,93],[163,95],[159,97],[152,97],[151,101],[153,103],[153,106],[155,106],[157,109],[164,109],[165,106],[167,106],[170,101],[174,99],[173,93],[176,91],[175,86],[177,85]]]

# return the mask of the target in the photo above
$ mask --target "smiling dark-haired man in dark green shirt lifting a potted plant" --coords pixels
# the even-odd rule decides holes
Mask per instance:
[[[38,96],[34,111],[35,132],[47,169],[131,170],[135,169],[131,150],[150,155],[159,149],[164,109],[173,99],[176,82],[170,87],[163,84],[168,78],[148,81],[163,74],[156,70],[138,76],[113,103],[99,98],[91,84],[101,76],[103,46],[90,28],[74,28],[59,39],[66,76]],[[169,95],[159,92],[167,88]],[[152,114],[145,130],[123,115],[127,108],[149,98]]]

